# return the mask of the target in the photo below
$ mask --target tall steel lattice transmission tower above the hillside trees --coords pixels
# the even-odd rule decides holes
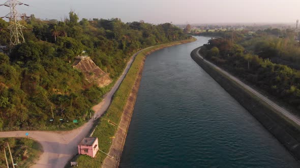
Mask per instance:
[[[18,19],[25,18],[26,16],[18,13],[16,7],[17,5],[29,6],[17,0],[8,0],[6,3],[0,5],[0,6],[6,6],[10,8],[10,13],[8,13],[4,17],[1,17],[1,18],[8,18],[10,20],[10,25],[7,27],[7,29],[10,30],[10,44],[9,44],[10,51],[15,45],[25,42],[22,29],[26,29],[26,27],[22,26]]]

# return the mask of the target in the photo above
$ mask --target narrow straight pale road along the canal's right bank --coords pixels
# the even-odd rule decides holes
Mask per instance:
[[[203,57],[199,54],[199,50],[197,50],[197,56],[200,57],[201,59],[203,59]],[[246,85],[244,82],[242,82],[241,80],[239,80],[238,78],[232,76],[231,74],[229,74],[228,72],[226,72],[225,70],[219,68],[217,65],[204,60],[207,64],[212,65],[213,67],[215,67],[216,69],[218,69],[219,71],[221,71],[223,74],[227,75],[228,77],[230,77],[231,79],[233,79],[235,82],[239,83],[239,85],[243,86],[245,89],[247,89],[248,91],[252,92],[253,94],[255,94],[256,96],[258,96],[259,98],[261,98],[263,101],[265,101],[268,105],[272,106],[273,108],[275,108],[278,112],[282,113],[284,116],[286,116],[287,118],[289,118],[291,121],[293,121],[294,123],[296,123],[297,125],[300,125],[300,118],[297,117],[296,115],[292,114],[291,112],[287,111],[286,109],[278,106],[276,103],[274,103],[273,101],[269,100],[268,98],[266,98],[265,96],[261,95],[260,93],[258,93],[257,91],[255,91],[254,89],[252,89],[251,87],[249,87],[248,85]]]

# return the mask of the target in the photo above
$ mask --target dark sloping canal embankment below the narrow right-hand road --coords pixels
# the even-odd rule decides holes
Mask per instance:
[[[288,151],[300,159],[300,130],[295,123],[280,114],[277,109],[245,89],[239,83],[208,64],[197,55],[199,48],[191,53],[192,59],[211,75],[235,100],[244,106]]]

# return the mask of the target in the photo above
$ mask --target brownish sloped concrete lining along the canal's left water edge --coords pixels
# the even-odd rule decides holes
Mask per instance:
[[[182,41],[177,41],[175,43],[170,43],[170,44],[165,44],[165,45],[159,45],[159,46],[154,46],[152,48],[149,48],[145,50],[144,52],[141,52],[139,54],[142,55],[143,59],[140,62],[140,66],[137,70],[137,75],[136,79],[134,82],[134,85],[132,86],[132,90],[130,93],[130,96],[127,99],[127,103],[124,107],[124,111],[122,114],[121,121],[118,124],[118,129],[115,133],[114,139],[112,141],[111,147],[109,149],[109,155],[114,157],[107,156],[102,164],[102,167],[104,168],[111,168],[111,167],[118,167],[119,166],[119,160],[121,159],[122,152],[124,149],[124,144],[126,141],[127,137],[127,131],[129,129],[130,121],[131,121],[131,116],[133,114],[133,108],[135,105],[135,100],[137,97],[139,85],[140,85],[140,80],[142,77],[142,71],[144,67],[144,61],[146,59],[146,56],[163,48],[175,46],[175,45],[180,45],[180,44],[185,44],[185,43],[190,43],[192,41],[195,41],[195,38],[188,39],[188,40],[182,40]],[[135,60],[136,61],[136,60]]]

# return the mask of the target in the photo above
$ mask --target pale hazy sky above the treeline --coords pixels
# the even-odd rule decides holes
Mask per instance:
[[[1,0],[5,3],[7,0]],[[121,18],[149,23],[291,23],[300,19],[300,0],[19,0],[20,13],[58,19],[71,9],[80,18]],[[0,16],[9,12],[0,7]]]

